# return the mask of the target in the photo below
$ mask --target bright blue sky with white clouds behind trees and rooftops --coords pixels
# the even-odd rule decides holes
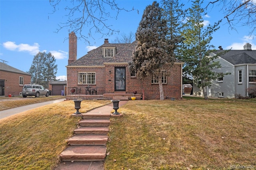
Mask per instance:
[[[210,0],[205,0],[204,4]],[[119,30],[120,34],[136,32],[138,24],[146,6],[152,4],[152,0],[116,0],[120,6],[128,9],[136,9],[132,12],[121,12],[118,19],[108,20],[113,25],[112,28]],[[180,2],[191,6],[191,1],[180,0]],[[66,65],[68,64],[68,34],[69,29],[64,28],[56,33],[58,24],[65,22],[64,10],[65,2],[59,6],[59,10],[52,13],[52,6],[49,0],[0,0],[0,59],[6,64],[28,71],[32,64],[34,55],[39,51],[51,52],[56,58],[58,65],[57,78],[66,79]],[[137,11],[138,10],[138,11]],[[204,16],[205,24],[213,24],[223,19],[223,12],[218,8],[208,11]],[[245,43],[251,43],[252,49],[256,49],[256,40],[248,36],[248,28],[237,26],[236,30],[228,29],[226,20],[223,19],[220,29],[212,34],[212,45],[223,49],[243,49]],[[83,31],[87,34],[86,30]],[[90,39],[90,49],[98,47],[104,43],[104,38],[113,42],[120,34],[102,37],[95,34],[94,39]],[[86,55],[90,50],[88,43],[78,40],[77,58]]]

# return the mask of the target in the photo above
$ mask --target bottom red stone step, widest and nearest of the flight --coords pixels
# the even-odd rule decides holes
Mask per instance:
[[[61,154],[62,161],[100,161],[106,157],[105,145],[68,146]]]

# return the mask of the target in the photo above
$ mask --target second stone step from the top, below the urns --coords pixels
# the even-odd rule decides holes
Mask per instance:
[[[82,119],[78,125],[81,127],[108,127],[110,119]]]

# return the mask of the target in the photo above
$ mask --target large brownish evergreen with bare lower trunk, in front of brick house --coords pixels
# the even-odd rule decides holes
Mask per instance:
[[[168,42],[168,27],[162,12],[156,1],[144,10],[136,32],[137,46],[130,65],[130,70],[136,72],[139,79],[147,76],[158,79],[160,100],[164,100],[163,67],[172,66],[175,60],[172,55],[174,45]]]

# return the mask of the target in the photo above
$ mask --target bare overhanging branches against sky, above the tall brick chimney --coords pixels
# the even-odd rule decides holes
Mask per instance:
[[[50,0],[52,13],[57,12],[64,3],[66,3],[64,9],[67,11],[65,14],[67,20],[58,24],[59,28],[56,32],[68,28],[89,44],[89,38],[94,38],[95,33],[101,34],[102,37],[118,33],[119,30],[108,24],[108,19],[116,19],[121,11],[134,10],[120,8],[115,0]]]

